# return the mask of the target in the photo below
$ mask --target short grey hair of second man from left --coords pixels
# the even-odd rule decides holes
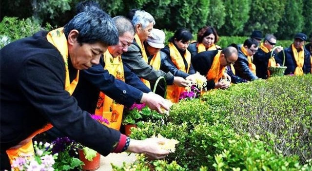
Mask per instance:
[[[116,16],[113,18],[113,21],[116,24],[119,36],[123,36],[126,32],[130,32],[132,35],[136,34],[135,26],[131,23],[130,19],[124,16]]]

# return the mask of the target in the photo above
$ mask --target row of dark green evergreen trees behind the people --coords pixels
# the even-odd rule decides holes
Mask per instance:
[[[75,13],[81,0],[2,0],[5,16],[33,18],[62,26]],[[213,25],[220,36],[250,36],[254,29],[292,39],[297,32],[312,34],[311,0],[95,0],[111,16],[126,15],[130,9],[146,10],[156,19],[156,28],[175,31],[189,28],[194,34]]]

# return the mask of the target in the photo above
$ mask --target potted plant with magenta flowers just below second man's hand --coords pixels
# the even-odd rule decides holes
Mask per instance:
[[[163,115],[151,111],[145,103],[134,103],[124,111],[122,124],[125,126],[125,134],[129,136],[132,127],[140,127],[144,121],[158,119],[163,119]]]

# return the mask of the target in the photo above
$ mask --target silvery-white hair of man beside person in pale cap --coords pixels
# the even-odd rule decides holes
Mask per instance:
[[[144,29],[150,23],[153,23],[153,25],[155,25],[155,19],[150,13],[144,10],[137,10],[135,16],[133,16],[132,24],[136,26],[139,23],[142,25],[142,28]]]

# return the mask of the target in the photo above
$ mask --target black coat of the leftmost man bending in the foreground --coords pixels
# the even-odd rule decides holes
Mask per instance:
[[[119,142],[118,131],[92,119],[64,90],[65,63],[59,51],[46,40],[46,34],[38,32],[0,50],[1,163],[7,160],[2,160],[5,150],[48,122],[102,155],[112,152]],[[68,69],[73,80],[77,70],[70,61]],[[120,95],[123,91],[115,93]]]

